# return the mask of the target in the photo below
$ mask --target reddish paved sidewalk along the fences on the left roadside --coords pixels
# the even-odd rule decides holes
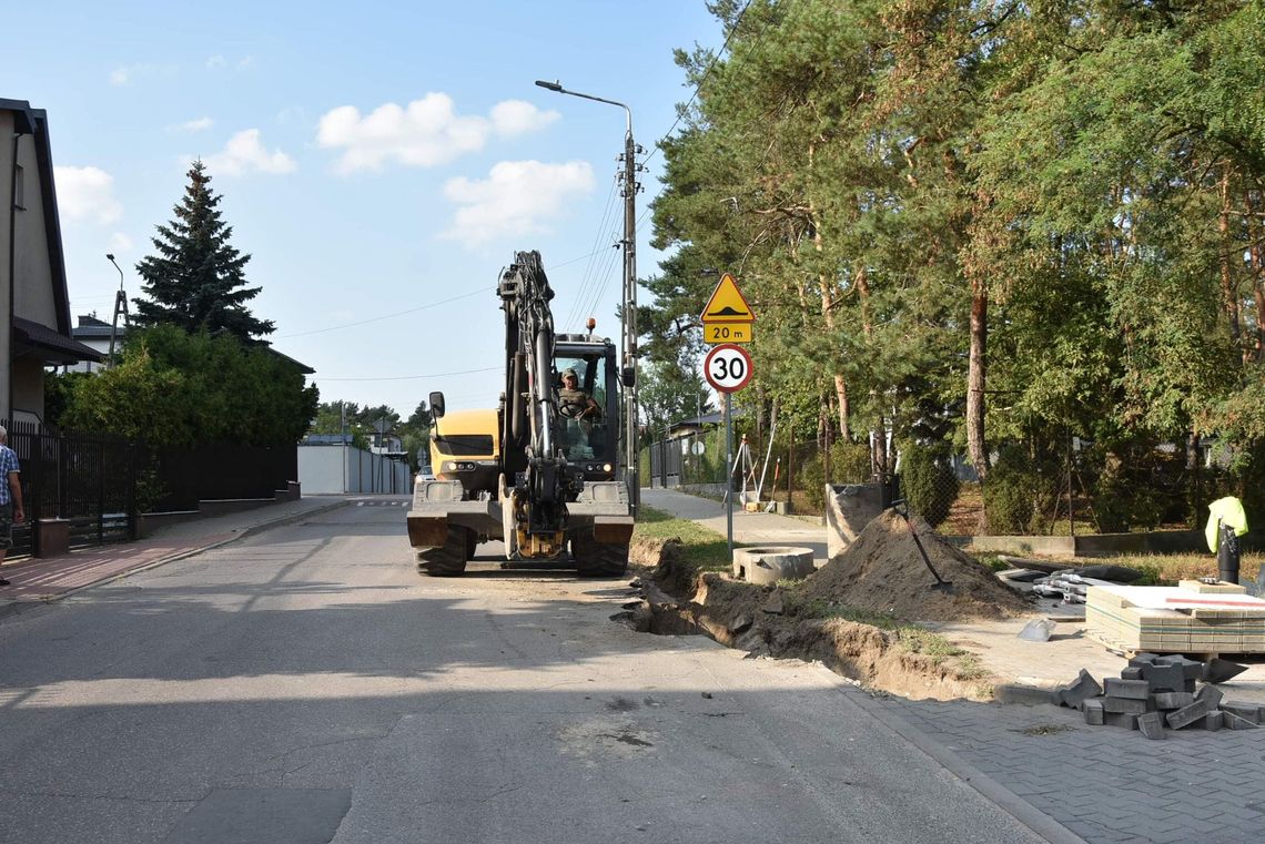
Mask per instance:
[[[172,524],[137,542],[118,542],[57,557],[6,562],[0,567],[0,574],[11,585],[0,586],[0,617],[19,610],[23,604],[57,600],[92,584],[180,560],[258,531],[347,507],[355,500],[363,500],[363,497],[301,498],[297,502]]]

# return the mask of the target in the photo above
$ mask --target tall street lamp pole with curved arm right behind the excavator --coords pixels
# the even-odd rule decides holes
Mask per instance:
[[[636,330],[636,154],[641,150],[632,142],[632,110],[616,100],[568,91],[560,82],[545,82],[536,80],[536,85],[553,91],[554,93],[567,93],[593,102],[624,109],[627,118],[627,129],[624,133],[624,172],[620,179],[624,182],[624,307],[621,326],[621,353],[624,355],[620,375],[624,382],[624,450],[625,474],[629,479],[629,495],[632,500],[632,514],[641,509],[641,469],[638,462],[638,402],[636,402],[636,358],[638,358],[638,330]]]

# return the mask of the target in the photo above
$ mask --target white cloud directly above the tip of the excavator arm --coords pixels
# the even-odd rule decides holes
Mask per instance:
[[[496,238],[549,231],[549,220],[563,214],[568,200],[592,190],[588,162],[501,162],[486,179],[462,177],[444,184],[444,196],[459,207],[441,236],[476,246]]]

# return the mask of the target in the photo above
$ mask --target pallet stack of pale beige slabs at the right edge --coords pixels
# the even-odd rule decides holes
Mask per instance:
[[[1090,586],[1085,627],[1122,651],[1265,653],[1265,600],[1226,581]]]

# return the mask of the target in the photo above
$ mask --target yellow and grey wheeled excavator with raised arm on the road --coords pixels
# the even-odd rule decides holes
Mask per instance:
[[[452,411],[430,394],[434,479],[414,483],[407,515],[417,571],[460,575],[481,541],[506,560],[574,567],[581,576],[627,570],[632,510],[619,480],[620,371],[615,345],[555,334],[539,251],[519,251],[497,283],[505,313],[505,390],[496,409]],[[577,418],[559,401],[576,374],[596,408]]]

